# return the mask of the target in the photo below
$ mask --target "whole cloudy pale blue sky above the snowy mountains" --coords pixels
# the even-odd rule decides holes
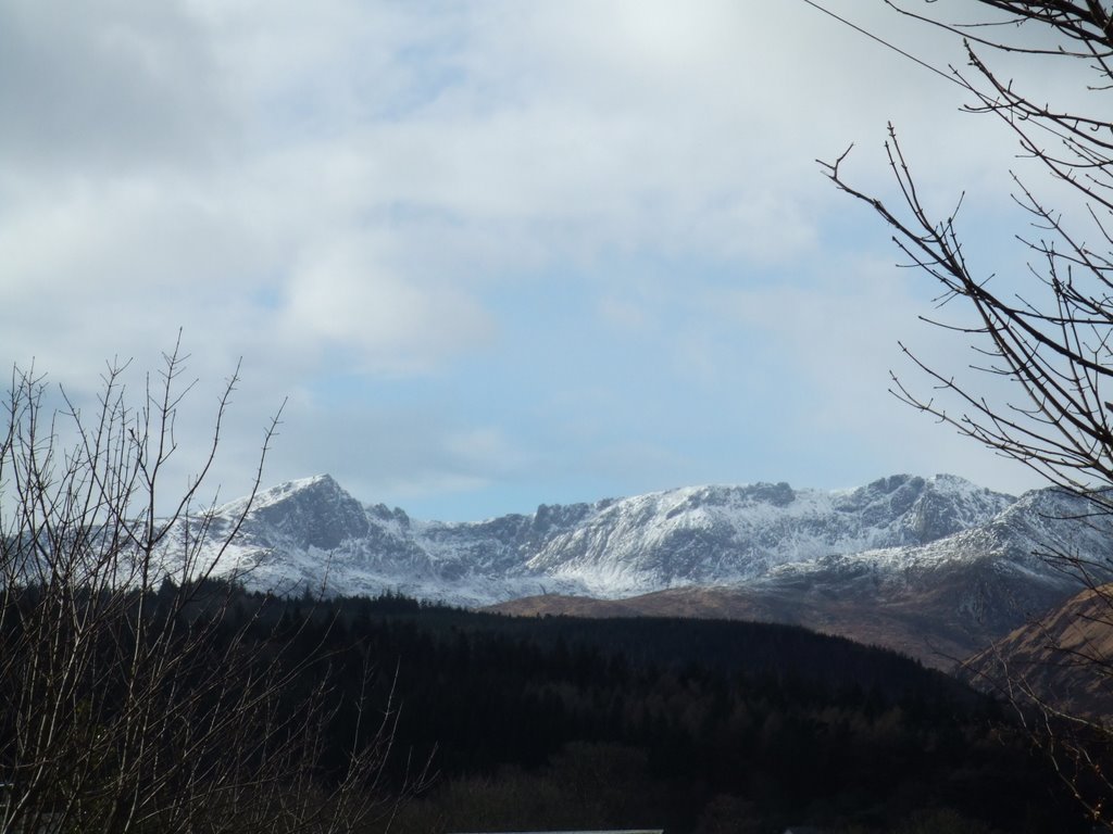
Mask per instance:
[[[802,0],[0,0],[0,363],[91,408],[130,359],[141,405],[180,331],[171,488],[238,364],[227,499],[279,407],[264,485],[418,518],[896,473],[1016,494],[1023,466],[889,393],[930,394],[898,342],[956,371],[967,344],[816,161],[853,143],[892,198],[892,121],[929,205],[965,191],[975,267],[1021,269],[1023,162],[964,102]]]

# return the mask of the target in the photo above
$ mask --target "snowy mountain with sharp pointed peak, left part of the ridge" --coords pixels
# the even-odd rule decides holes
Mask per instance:
[[[246,507],[240,498],[216,510],[217,539]],[[461,605],[550,588],[582,593],[574,583],[540,582],[544,577],[522,565],[549,532],[590,512],[589,505],[573,505],[481,523],[421,522],[402,509],[363,506],[321,475],[260,492],[217,573],[277,593],[394,590]]]

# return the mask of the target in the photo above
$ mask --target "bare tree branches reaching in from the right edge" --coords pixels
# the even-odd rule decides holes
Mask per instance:
[[[962,38],[969,69],[952,71],[974,97],[964,109],[999,119],[1008,139],[1003,152],[1012,153],[1015,143],[1026,168],[1036,178],[1065,185],[1071,200],[1064,219],[1026,183],[1028,175],[1014,173],[1013,198],[1031,224],[1031,231],[1016,236],[1030,258],[1027,272],[979,274],[966,258],[957,209],[940,215],[925,205],[892,125],[885,145],[897,186],[892,201],[851,185],[845,173],[849,151],[820,162],[838,189],[881,218],[907,266],[938,284],[940,308],[958,311],[953,321],[944,319],[945,312],[925,320],[971,341],[974,359],[958,374],[934,367],[902,345],[926,386],[894,374],[892,391],[1052,484],[1085,496],[1095,515],[1113,513],[1113,109],[1107,100],[1113,90],[1113,13],[1099,0],[977,0],[965,11],[979,10],[983,18],[952,22],[938,18],[930,0],[917,7],[922,11],[886,2]],[[1003,56],[1023,59],[1028,85],[995,69]],[[1031,91],[1033,79],[1052,63],[1075,82],[1071,106],[1054,106]],[[991,396],[991,380],[1007,383],[1006,393]],[[1105,639],[1113,631],[1113,585],[1107,584],[1113,565],[1082,559],[1058,542],[1046,543],[1041,555],[1075,576],[1092,596],[1071,628],[1040,627],[1043,648],[1057,671],[1084,674],[1113,695],[1113,641]],[[1094,821],[1113,830],[1113,732],[1107,723],[1050,695],[1043,677],[1003,651],[979,664],[978,674],[1017,707],[1033,739]]]

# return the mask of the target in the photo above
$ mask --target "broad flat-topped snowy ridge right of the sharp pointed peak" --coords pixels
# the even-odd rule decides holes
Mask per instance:
[[[844,493],[787,484],[627,498],[555,536],[529,566],[617,596],[745,583],[778,565],[917,545],[984,524],[1011,496],[953,476],[894,476]]]

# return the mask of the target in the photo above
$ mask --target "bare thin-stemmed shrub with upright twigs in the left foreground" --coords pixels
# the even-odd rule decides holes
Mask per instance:
[[[88,414],[65,391],[65,410],[48,411],[43,378],[12,374],[0,423],[0,834],[349,832],[390,811],[377,788],[394,707],[381,705],[343,772],[324,777],[338,707],[323,638],[304,633],[309,620],[279,633],[273,599],[245,608],[240,568],[221,565],[282,409],[234,523],[216,534],[214,507],[198,510],[238,367],[198,474],[164,490],[184,451],[186,359],[179,337],[138,409],[127,404],[127,364],[109,364]],[[368,692],[357,708],[370,721]]]

